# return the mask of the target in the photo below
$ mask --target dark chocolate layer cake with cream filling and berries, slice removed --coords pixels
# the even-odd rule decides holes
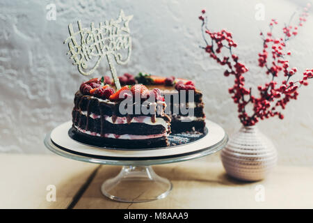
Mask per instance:
[[[118,91],[109,77],[81,84],[72,111],[75,137],[99,146],[150,148],[168,146],[170,132],[203,132],[202,93],[193,82],[143,73],[119,79]]]

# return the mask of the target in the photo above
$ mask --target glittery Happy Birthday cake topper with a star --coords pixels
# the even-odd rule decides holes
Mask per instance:
[[[123,10],[117,20],[106,20],[100,22],[96,28],[94,23],[90,24],[90,29],[83,28],[81,21],[78,21],[78,31],[74,31],[72,24],[68,25],[70,36],[64,41],[68,44],[71,54],[70,59],[74,60],[73,65],[77,65],[82,75],[91,75],[99,66],[104,56],[109,63],[113,81],[117,89],[120,89],[120,82],[116,74],[114,60],[118,64],[126,64],[131,56],[131,36],[129,31],[129,21],[133,15],[125,16]],[[80,38],[80,43],[77,38]],[[123,58],[122,51],[126,56]],[[114,58],[114,59],[113,59]],[[88,68],[88,63],[93,63],[93,67]]]

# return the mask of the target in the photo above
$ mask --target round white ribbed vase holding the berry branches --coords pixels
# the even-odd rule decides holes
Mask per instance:
[[[239,180],[262,180],[277,162],[277,151],[257,126],[243,126],[220,153],[228,175]]]

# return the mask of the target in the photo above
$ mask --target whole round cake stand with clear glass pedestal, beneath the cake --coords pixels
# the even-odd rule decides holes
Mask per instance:
[[[209,120],[206,120],[206,125],[209,131],[203,137],[166,148],[129,150],[90,146],[69,136],[71,121],[54,128],[46,135],[44,142],[50,151],[63,157],[122,166],[118,176],[104,181],[102,194],[115,201],[145,202],[162,199],[172,190],[170,180],[158,176],[152,165],[193,160],[216,153],[227,144],[228,137],[223,128]]]

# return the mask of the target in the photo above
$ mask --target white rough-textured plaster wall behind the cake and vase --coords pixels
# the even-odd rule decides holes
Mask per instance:
[[[89,2],[89,3],[85,3]],[[46,20],[48,3],[55,3],[56,21]],[[256,3],[264,3],[265,20],[255,20]],[[152,72],[194,79],[203,90],[207,117],[223,125],[229,134],[240,128],[236,107],[227,89],[230,78],[198,47],[199,12],[206,8],[212,28],[232,31],[239,44],[236,54],[248,65],[246,79],[253,86],[264,82],[256,66],[266,29],[275,17],[280,22],[301,1],[17,1],[0,3],[0,151],[47,153],[45,133],[70,119],[74,92],[84,77],[65,55],[67,24],[79,19],[86,26],[116,17],[120,8],[133,14],[133,54],[118,72]],[[299,70],[313,67],[313,18],[300,30],[293,49],[293,65]],[[108,74],[102,63],[99,74]],[[95,74],[96,75],[96,74]],[[283,121],[272,118],[259,127],[278,148],[280,163],[313,164],[313,83],[300,89]],[[218,156],[209,159],[217,160]]]

